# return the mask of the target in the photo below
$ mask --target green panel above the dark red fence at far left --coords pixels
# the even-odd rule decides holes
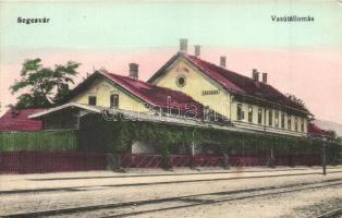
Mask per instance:
[[[65,152],[76,149],[76,131],[0,133],[0,152]]]

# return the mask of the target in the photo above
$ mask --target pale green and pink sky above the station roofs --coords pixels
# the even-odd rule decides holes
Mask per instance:
[[[314,22],[273,22],[271,16]],[[17,23],[50,19],[47,24]],[[0,102],[14,104],[9,86],[26,59],[47,66],[82,63],[77,82],[94,69],[127,74],[139,64],[146,81],[188,39],[188,53],[252,76],[302,98],[317,119],[342,123],[341,1],[0,1]],[[3,112],[3,108],[2,108]]]

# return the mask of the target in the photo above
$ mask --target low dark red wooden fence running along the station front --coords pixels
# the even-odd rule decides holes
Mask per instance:
[[[62,171],[106,170],[106,153],[86,152],[10,152],[0,153],[0,173],[47,173]],[[231,167],[266,166],[266,157],[229,157]],[[161,155],[122,155],[123,168],[160,168]],[[172,167],[223,167],[223,157],[172,155]],[[319,156],[297,155],[276,157],[277,166],[318,166]]]

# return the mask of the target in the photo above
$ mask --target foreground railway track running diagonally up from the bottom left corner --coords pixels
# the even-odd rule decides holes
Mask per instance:
[[[323,182],[293,183],[279,186],[262,186],[255,189],[244,189],[227,192],[212,192],[196,195],[184,195],[176,197],[151,198],[144,201],[88,205],[81,207],[60,208],[41,211],[27,211],[23,214],[5,215],[9,218],[19,217],[49,217],[49,216],[69,216],[69,217],[129,217],[134,215],[157,213],[163,210],[195,207],[200,205],[210,205],[225,203],[230,201],[247,199],[261,196],[273,196],[292,192],[301,192],[312,189],[325,189],[342,185],[340,179],[331,179]]]

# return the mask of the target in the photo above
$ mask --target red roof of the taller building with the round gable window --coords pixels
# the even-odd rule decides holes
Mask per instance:
[[[156,77],[163,73],[164,70],[180,56],[192,62],[201,72],[206,73],[210,78],[222,85],[228,90],[235,92],[242,95],[257,97],[271,101],[273,104],[288,106],[308,113],[308,110],[306,108],[304,108],[300,104],[292,101],[269,84],[255,82],[251,77],[223,69],[213,63],[209,63],[205,60],[199,59],[196,56],[190,56],[182,52],[173,56],[155,75],[152,75],[148,80],[148,82],[151,83]]]

